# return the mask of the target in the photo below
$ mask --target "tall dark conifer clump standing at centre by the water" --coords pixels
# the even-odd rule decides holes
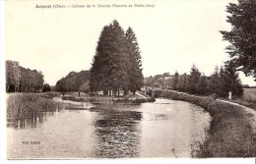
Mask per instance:
[[[113,95],[122,89],[135,93],[143,85],[142,61],[135,32],[126,32],[117,21],[103,27],[96,46],[91,68],[92,91],[112,90]]]

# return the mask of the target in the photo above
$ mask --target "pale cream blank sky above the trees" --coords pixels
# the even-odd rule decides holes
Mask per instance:
[[[105,25],[132,27],[145,77],[189,73],[193,64],[206,76],[228,60],[220,30],[229,30],[225,6],[232,0],[172,1],[6,1],[6,60],[41,71],[54,85],[69,72],[89,70]],[[129,8],[38,9],[36,5],[132,5]],[[154,7],[135,7],[150,4]],[[256,85],[240,73],[243,84]]]

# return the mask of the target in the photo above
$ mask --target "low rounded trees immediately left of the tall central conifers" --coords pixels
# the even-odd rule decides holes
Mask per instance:
[[[79,73],[70,72],[65,78],[62,78],[55,84],[55,90],[60,92],[69,91],[90,91],[90,72],[81,71]]]

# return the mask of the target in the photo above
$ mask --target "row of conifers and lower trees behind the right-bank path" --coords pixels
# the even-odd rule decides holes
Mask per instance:
[[[243,93],[242,84],[232,61],[227,61],[222,67],[216,67],[210,77],[202,74],[193,65],[190,74],[173,76],[168,74],[145,78],[145,86],[171,88],[174,90],[189,92],[191,94],[210,95],[216,93],[220,97],[227,97],[231,91],[232,97],[240,97]]]

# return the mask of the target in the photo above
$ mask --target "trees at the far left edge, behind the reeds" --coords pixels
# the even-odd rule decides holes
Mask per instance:
[[[6,91],[30,92],[42,88],[43,75],[36,70],[25,69],[17,61],[6,61]]]

